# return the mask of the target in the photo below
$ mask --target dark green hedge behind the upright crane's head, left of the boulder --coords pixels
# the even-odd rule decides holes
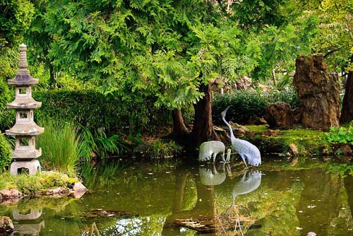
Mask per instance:
[[[254,90],[237,90],[235,93],[217,94],[212,101],[213,122],[223,124],[220,113],[229,105],[227,117],[232,122],[246,124],[251,117],[263,117],[266,106],[272,102],[287,102],[292,108],[299,107],[297,91],[293,88],[270,90],[259,93]]]

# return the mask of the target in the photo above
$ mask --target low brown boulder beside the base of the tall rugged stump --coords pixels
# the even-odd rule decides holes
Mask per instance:
[[[275,102],[266,107],[265,120],[270,126],[292,126],[301,121],[301,113],[300,107],[292,110],[285,102]]]

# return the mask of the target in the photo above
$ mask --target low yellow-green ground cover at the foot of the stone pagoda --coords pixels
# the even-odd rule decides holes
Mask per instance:
[[[0,189],[18,189],[28,195],[37,194],[44,189],[66,187],[68,183],[75,182],[68,175],[59,172],[44,172],[41,175],[10,175],[5,172],[0,177]]]

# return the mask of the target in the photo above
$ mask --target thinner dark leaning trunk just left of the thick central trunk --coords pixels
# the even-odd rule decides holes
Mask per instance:
[[[173,131],[172,131],[173,139],[180,145],[185,146],[188,129],[186,129],[186,126],[184,124],[184,119],[183,119],[183,115],[181,114],[181,110],[178,110],[178,109],[172,110],[172,118],[173,118]]]

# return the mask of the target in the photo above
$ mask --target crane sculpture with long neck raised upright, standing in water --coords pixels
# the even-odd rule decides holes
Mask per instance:
[[[239,153],[246,167],[248,167],[248,165],[246,165],[246,160],[248,160],[249,165],[255,165],[255,166],[261,165],[261,154],[258,148],[256,148],[255,145],[253,145],[252,143],[249,143],[246,140],[242,140],[234,137],[232,126],[225,120],[225,114],[227,114],[228,109],[229,107],[227,107],[221,113],[221,116],[222,116],[223,122],[225,122],[225,124],[227,124],[229,128],[230,140],[232,142],[233,150]]]

